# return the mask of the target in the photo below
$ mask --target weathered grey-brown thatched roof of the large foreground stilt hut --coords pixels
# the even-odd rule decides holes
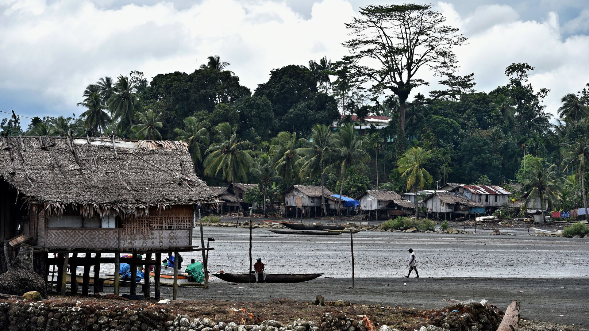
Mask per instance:
[[[2,137],[0,177],[49,214],[68,205],[104,215],[216,201],[181,141]]]

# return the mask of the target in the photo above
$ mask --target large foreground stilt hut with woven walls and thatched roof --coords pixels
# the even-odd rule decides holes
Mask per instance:
[[[2,138],[0,238],[6,258],[14,254],[6,242],[20,236],[34,247],[35,272],[44,279],[50,264],[58,265],[61,277],[68,264],[85,266],[82,293],[88,291],[90,266],[95,276],[101,263],[114,263],[117,270],[125,260],[120,253],[130,253],[135,258],[125,263],[131,267],[155,264],[157,296],[161,253],[201,250],[192,236],[196,210],[215,203],[216,195],[196,176],[187,145],[180,141]],[[137,259],[138,253],[147,254],[145,260]]]

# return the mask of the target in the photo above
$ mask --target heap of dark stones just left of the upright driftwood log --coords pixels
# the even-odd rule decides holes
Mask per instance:
[[[494,331],[501,319],[503,312],[490,304],[458,303],[429,316],[429,325],[419,331]]]

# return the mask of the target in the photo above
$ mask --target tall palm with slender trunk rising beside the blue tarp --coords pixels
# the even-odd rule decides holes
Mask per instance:
[[[335,133],[335,144],[337,147],[337,167],[342,176],[342,183],[339,188],[338,213],[342,212],[343,185],[346,183],[346,171],[349,167],[362,170],[370,155],[364,150],[366,140],[360,138],[352,124],[345,124],[339,127]]]

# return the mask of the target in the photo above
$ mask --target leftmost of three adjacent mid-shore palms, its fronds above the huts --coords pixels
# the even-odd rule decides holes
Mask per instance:
[[[270,146],[274,168],[286,183],[291,183],[294,176],[299,173],[298,162],[301,157],[296,151],[296,143],[296,133],[282,131],[272,139]]]

